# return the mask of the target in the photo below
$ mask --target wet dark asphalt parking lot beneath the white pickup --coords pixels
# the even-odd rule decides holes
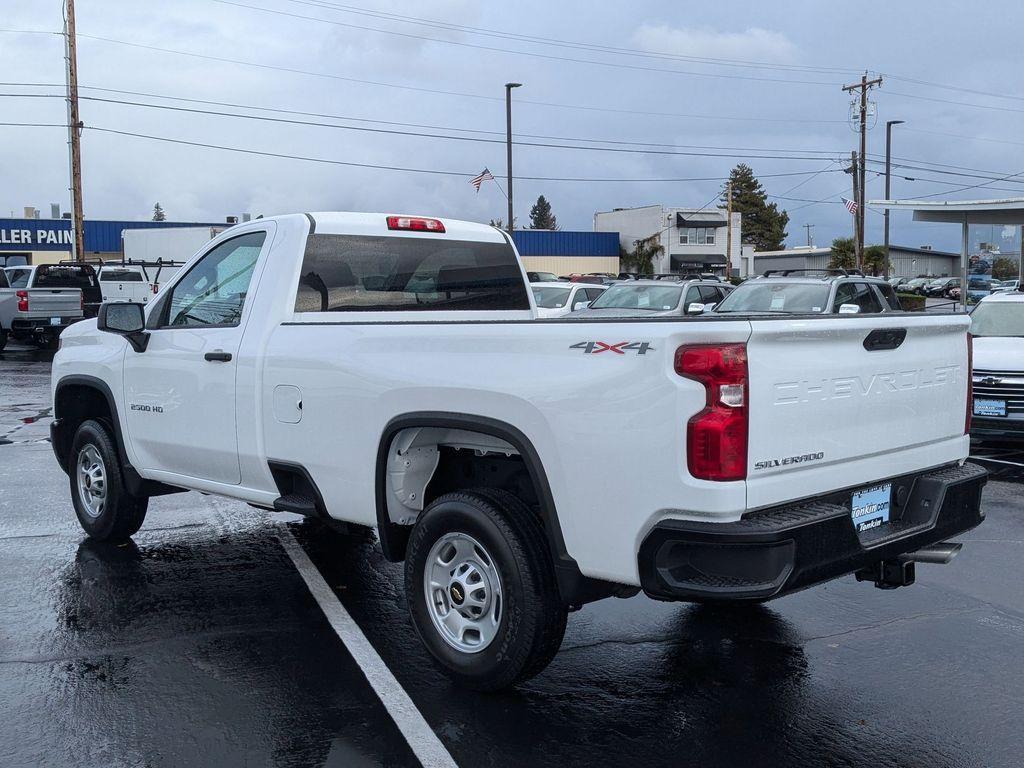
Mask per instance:
[[[367,535],[182,494],[154,499],[131,543],[85,539],[47,441],[48,357],[0,353],[2,766],[1024,760],[1014,450],[979,447],[987,520],[913,587],[594,603],[547,671],[482,695],[430,665],[401,569]]]

